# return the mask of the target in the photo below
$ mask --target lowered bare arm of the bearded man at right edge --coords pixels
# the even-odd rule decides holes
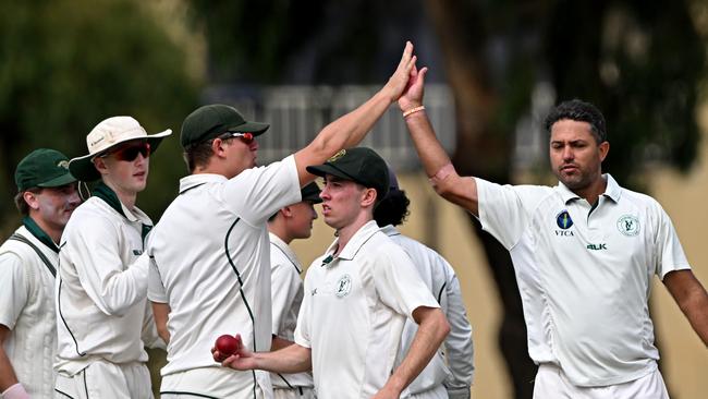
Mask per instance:
[[[700,281],[691,269],[686,269],[670,271],[663,277],[663,285],[703,343],[708,347],[708,293]]]

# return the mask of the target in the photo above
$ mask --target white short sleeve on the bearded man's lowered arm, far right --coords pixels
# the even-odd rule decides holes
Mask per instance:
[[[669,271],[689,269],[691,265],[686,259],[686,254],[683,252],[683,246],[679,241],[676,230],[673,228],[671,218],[663,210],[661,205],[656,203],[658,207],[658,227],[656,234],[656,251],[655,258],[657,259],[656,274],[663,279]]]

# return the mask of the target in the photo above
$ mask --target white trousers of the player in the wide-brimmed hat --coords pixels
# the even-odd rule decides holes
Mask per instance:
[[[152,399],[150,372],[144,363],[97,361],[73,376],[57,375],[57,399]]]

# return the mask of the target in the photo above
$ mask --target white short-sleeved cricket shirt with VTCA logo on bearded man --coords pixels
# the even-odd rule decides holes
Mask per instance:
[[[621,384],[656,370],[651,277],[689,268],[661,206],[603,178],[594,209],[561,183],[476,180],[483,228],[514,263],[529,354],[559,365],[577,386]]]

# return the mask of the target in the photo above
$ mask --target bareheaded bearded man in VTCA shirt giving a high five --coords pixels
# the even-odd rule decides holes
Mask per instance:
[[[436,192],[479,218],[509,251],[524,303],[535,398],[668,398],[648,298],[656,275],[708,344],[708,294],[671,219],[622,188],[602,161],[602,113],[581,100],[546,118],[554,188],[460,177],[423,106],[426,69],[399,100]]]

